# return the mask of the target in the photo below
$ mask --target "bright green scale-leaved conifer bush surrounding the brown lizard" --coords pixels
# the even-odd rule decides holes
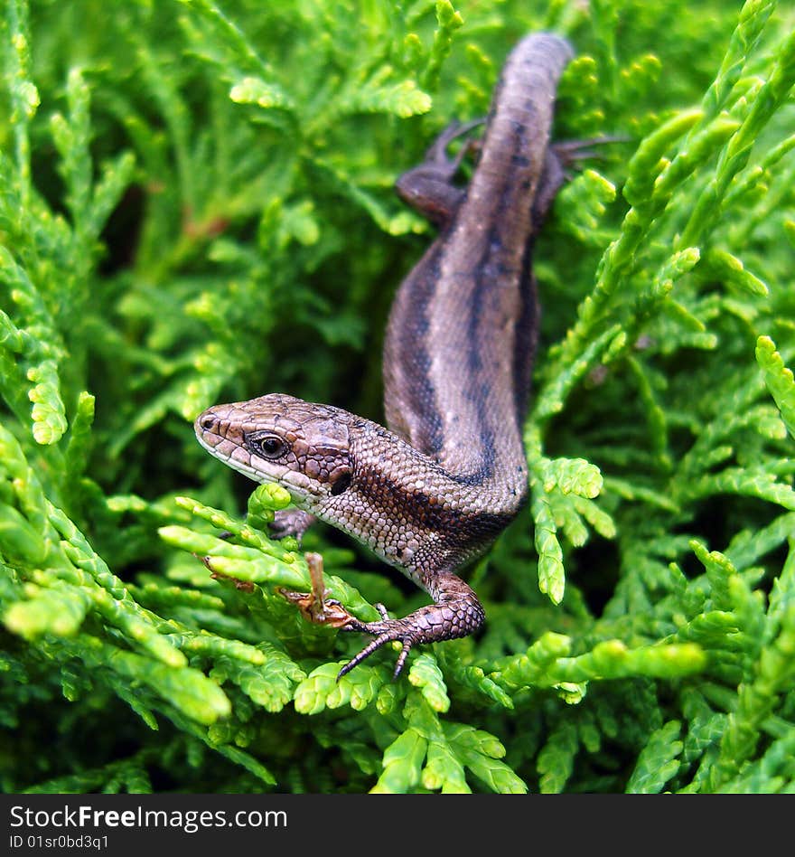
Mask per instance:
[[[793,789],[776,6],[7,0],[5,791]],[[268,391],[382,419],[388,306],[433,234],[392,184],[542,28],[577,51],[557,137],[629,140],[538,240],[531,503],[470,574],[481,636],[335,683],[360,635],[277,594],[307,587],[267,539],[283,497],[246,518],[252,484],[191,420]],[[330,528],[303,548],[360,617],[425,603]]]

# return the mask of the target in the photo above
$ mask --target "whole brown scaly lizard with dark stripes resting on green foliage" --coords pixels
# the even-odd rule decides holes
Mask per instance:
[[[467,636],[485,613],[459,576],[528,497],[522,423],[538,338],[534,240],[571,149],[550,144],[568,42],[531,33],[510,52],[477,162],[454,183],[472,124],[448,127],[397,193],[438,236],[397,290],[383,350],[387,427],[332,405],[269,393],[214,405],[194,424],[201,446],[257,482],[284,485],[295,509],[276,534],[300,537],[314,517],[368,545],[433,603],[403,618],[346,630],[371,635],[340,677],[391,641],[412,646]]]

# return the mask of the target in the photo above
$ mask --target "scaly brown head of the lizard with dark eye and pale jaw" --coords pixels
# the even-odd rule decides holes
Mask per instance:
[[[309,511],[351,485],[347,411],[282,393],[214,405],[193,428],[201,446],[256,482],[283,485]]]

